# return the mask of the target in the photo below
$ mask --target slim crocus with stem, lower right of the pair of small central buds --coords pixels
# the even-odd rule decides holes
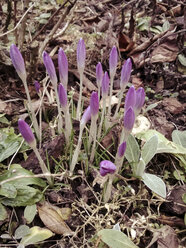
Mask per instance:
[[[100,136],[101,136],[104,116],[105,116],[105,112],[106,112],[106,98],[108,96],[109,84],[110,84],[109,76],[108,76],[108,73],[105,72],[105,74],[103,76],[103,79],[102,79],[102,84],[101,84],[103,109],[102,109],[102,112],[101,112],[101,121],[100,121],[100,124],[99,124],[97,139],[99,139]]]

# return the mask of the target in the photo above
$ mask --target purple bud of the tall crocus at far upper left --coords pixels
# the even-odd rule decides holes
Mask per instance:
[[[12,64],[16,69],[17,74],[21,78],[23,82],[26,81],[26,70],[25,70],[25,63],[23,57],[16,45],[12,44],[10,46],[10,58],[12,60]]]

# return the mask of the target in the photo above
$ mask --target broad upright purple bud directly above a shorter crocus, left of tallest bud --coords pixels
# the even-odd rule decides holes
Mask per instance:
[[[58,52],[58,67],[60,82],[67,88],[68,83],[68,60],[62,48]]]

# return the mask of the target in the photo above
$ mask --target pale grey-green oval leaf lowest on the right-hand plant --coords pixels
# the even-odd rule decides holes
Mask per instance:
[[[166,197],[166,186],[161,178],[149,173],[144,173],[142,178],[144,184],[154,193],[158,194],[163,198]]]

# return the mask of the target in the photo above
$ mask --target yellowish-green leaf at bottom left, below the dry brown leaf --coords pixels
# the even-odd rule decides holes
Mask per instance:
[[[34,226],[30,228],[30,233],[21,239],[22,245],[33,245],[43,240],[49,239],[53,236],[53,233],[46,229]]]

